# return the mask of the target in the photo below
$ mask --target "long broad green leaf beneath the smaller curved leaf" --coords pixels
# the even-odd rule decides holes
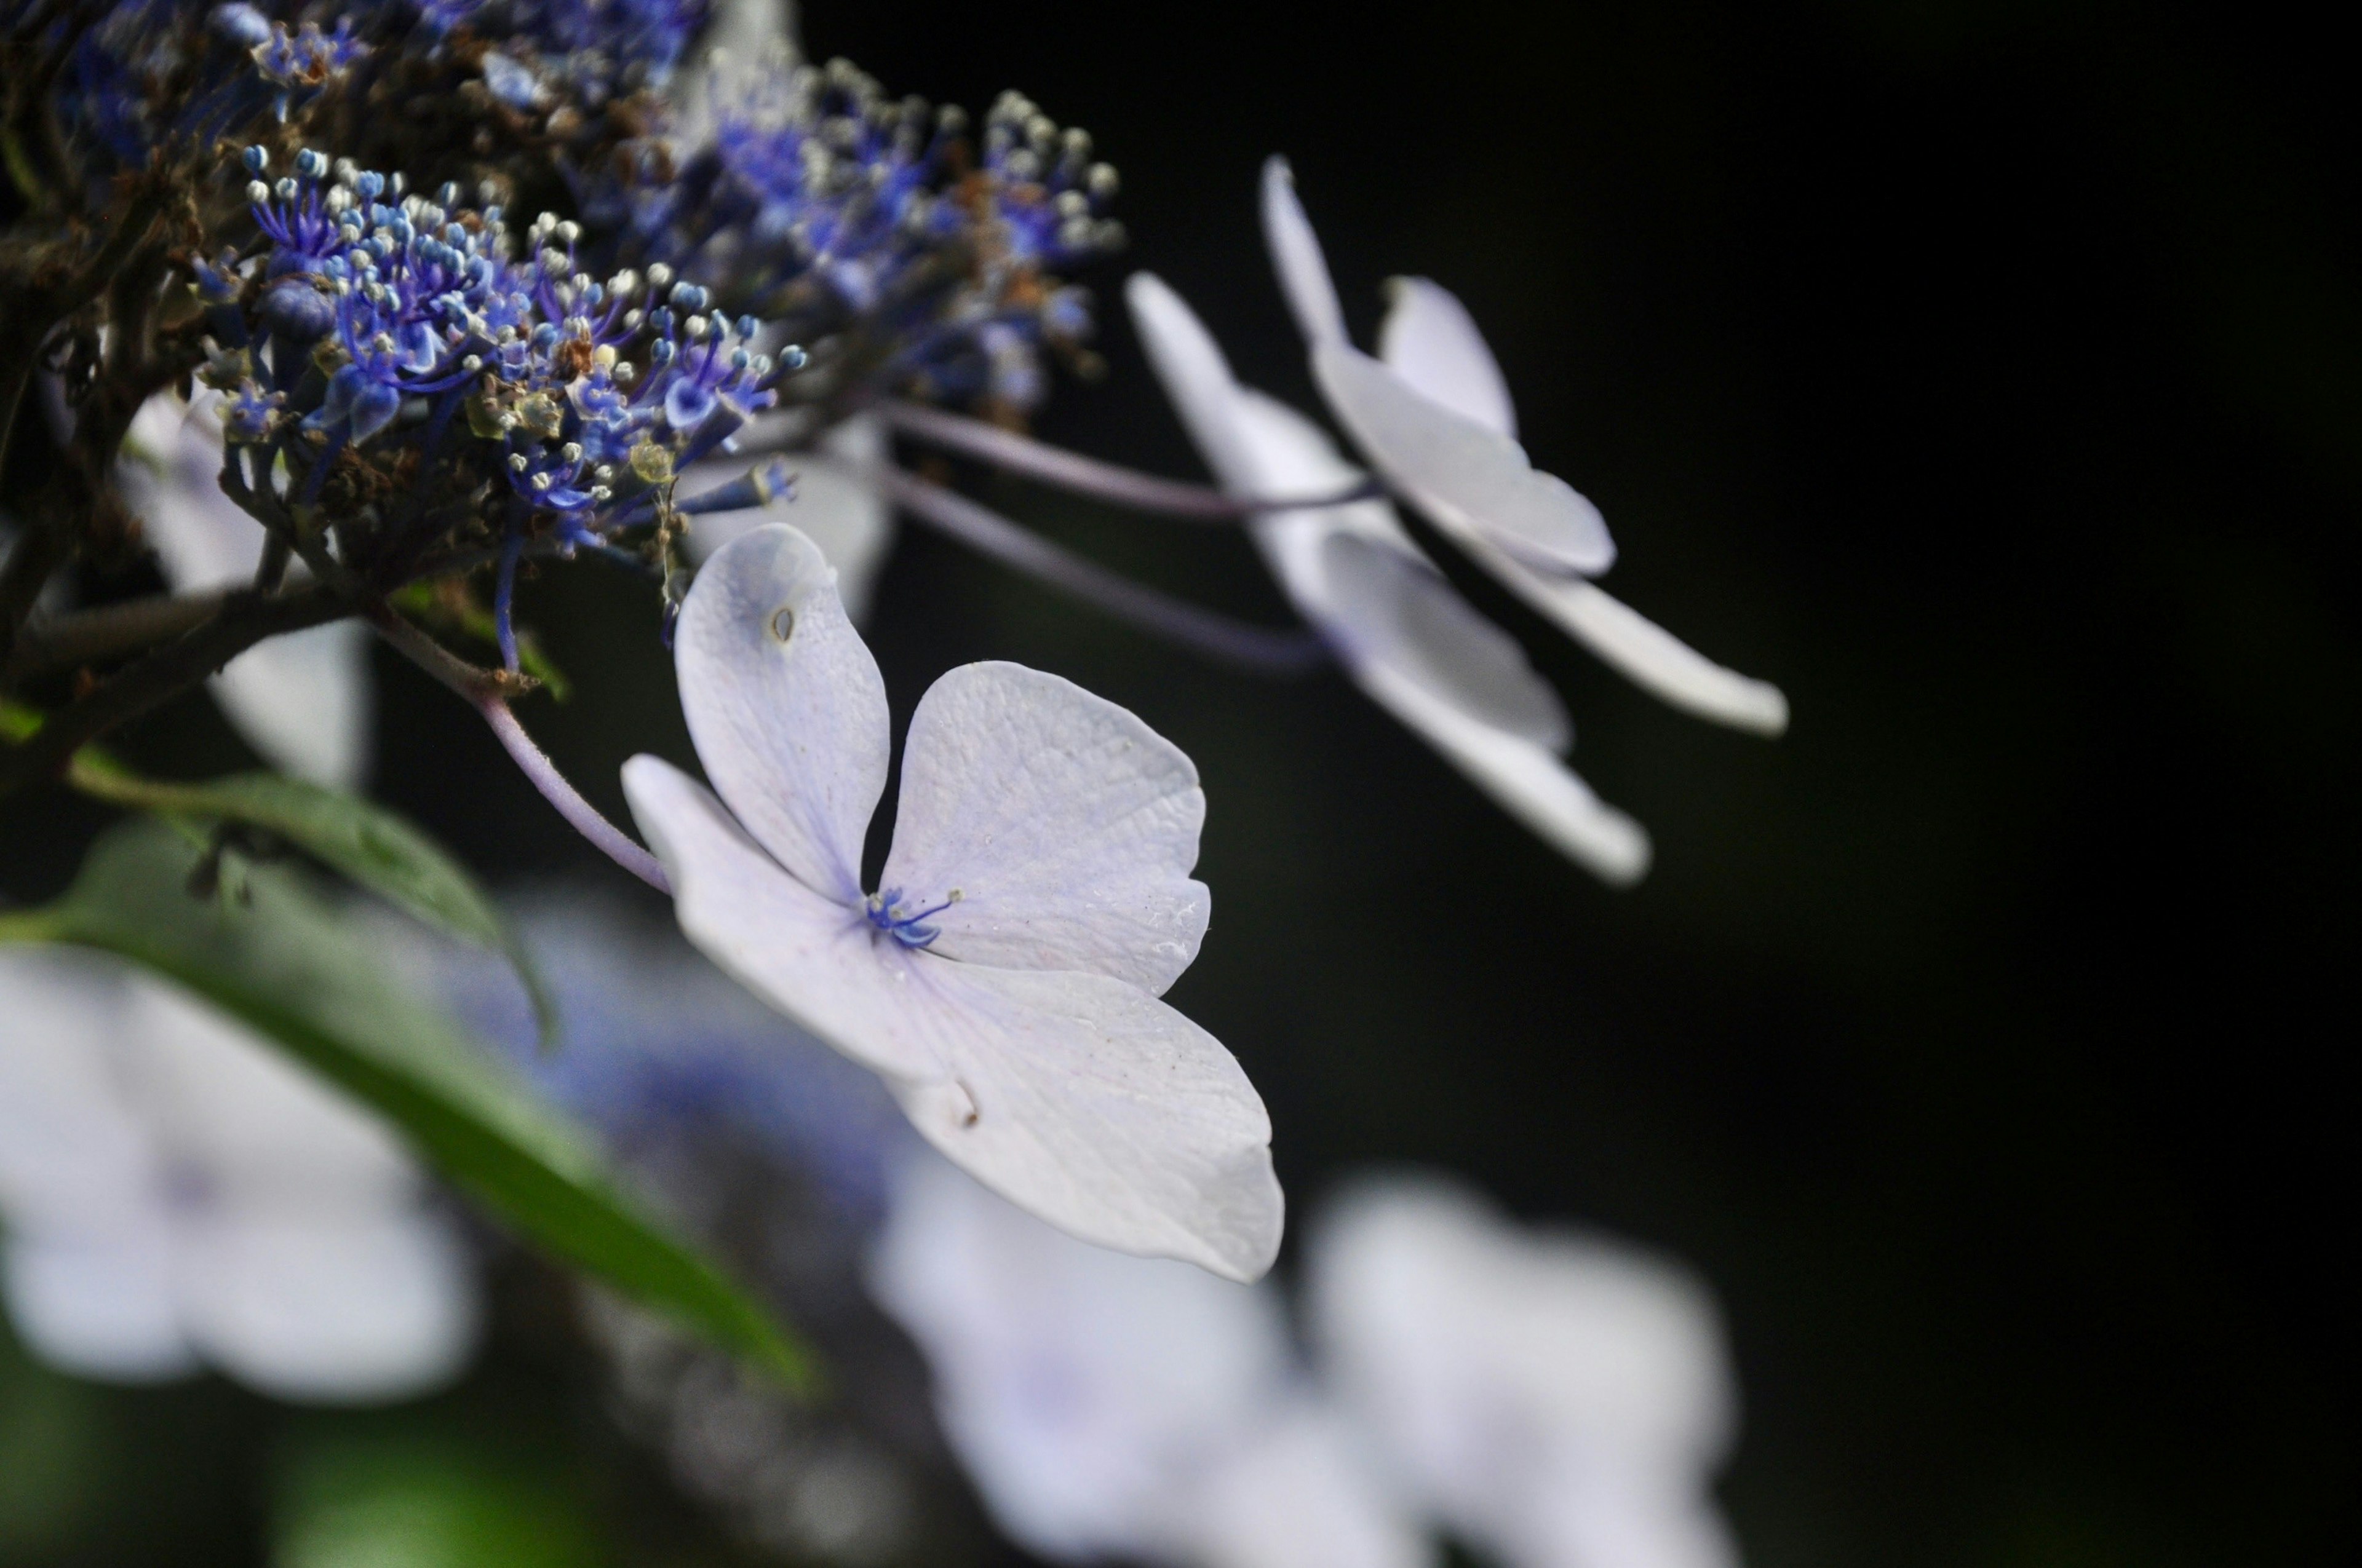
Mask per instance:
[[[66,895],[0,916],[0,940],[120,954],[213,1001],[409,1133],[444,1176],[524,1237],[810,1389],[805,1351],[702,1254],[607,1181],[590,1143],[487,1046],[385,975],[383,942],[350,928],[286,867],[253,867],[236,900],[191,897],[203,848],[161,822],[99,838]]]

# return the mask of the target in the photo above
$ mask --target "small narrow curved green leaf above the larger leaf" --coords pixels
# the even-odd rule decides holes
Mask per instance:
[[[163,784],[142,779],[92,749],[73,758],[66,782],[113,805],[236,822],[286,838],[428,926],[505,956],[534,999],[541,1044],[557,1039],[557,1001],[524,937],[463,864],[383,805],[276,772]]]

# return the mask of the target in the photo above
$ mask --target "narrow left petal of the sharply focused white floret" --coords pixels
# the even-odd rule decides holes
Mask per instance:
[[[680,930],[739,985],[872,1072],[942,1077],[942,1056],[900,1027],[900,989],[874,952],[881,933],[860,909],[789,876],[763,845],[671,763],[624,763],[624,796],[640,836],[673,878]]]

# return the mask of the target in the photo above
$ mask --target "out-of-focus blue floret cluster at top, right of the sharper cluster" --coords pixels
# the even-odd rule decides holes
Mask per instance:
[[[1042,349],[1077,349],[1089,295],[1061,274],[1122,246],[1115,170],[1018,94],[985,118],[888,99],[846,61],[716,83],[716,130],[586,213],[626,250],[730,279],[798,340],[857,338],[867,385],[1025,411]]]

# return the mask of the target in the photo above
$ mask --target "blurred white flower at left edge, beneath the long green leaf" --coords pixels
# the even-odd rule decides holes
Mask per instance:
[[[392,1400],[477,1339],[461,1240],[385,1126],[94,954],[0,954],[0,1228],[19,1337],[87,1377]]]

